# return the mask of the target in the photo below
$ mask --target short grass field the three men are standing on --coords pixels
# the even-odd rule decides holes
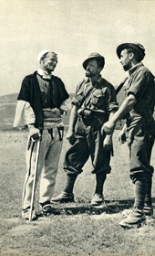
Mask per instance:
[[[121,211],[133,203],[133,186],[129,180],[127,145],[119,145],[114,133],[112,172],[105,184],[105,206],[89,206],[94,194],[95,176],[88,161],[78,176],[74,190],[76,202],[55,205],[60,215],[28,222],[21,219],[21,197],[26,174],[27,133],[0,133],[1,207],[0,256],[154,256],[155,219],[140,229],[121,229]],[[62,169],[67,150],[64,140],[57,174],[55,196],[62,191],[65,174]],[[155,147],[152,165],[155,166]],[[37,192],[37,191],[36,191]],[[155,207],[155,187],[152,191]],[[36,196],[36,210],[38,203]]]

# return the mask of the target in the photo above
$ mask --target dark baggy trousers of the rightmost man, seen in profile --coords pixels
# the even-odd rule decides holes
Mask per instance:
[[[152,146],[155,138],[154,120],[142,118],[128,127],[129,169],[130,177],[135,183],[140,177],[152,176],[153,166],[150,165]]]

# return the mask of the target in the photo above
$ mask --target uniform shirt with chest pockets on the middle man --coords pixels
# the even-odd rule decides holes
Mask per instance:
[[[110,112],[118,110],[115,89],[108,80],[101,76],[94,84],[91,84],[89,79],[79,83],[72,104],[77,106],[78,113],[83,110],[81,116],[78,117],[77,134],[85,133],[86,126],[100,130],[103,123],[109,120]],[[90,114],[85,116],[85,110],[88,110]]]

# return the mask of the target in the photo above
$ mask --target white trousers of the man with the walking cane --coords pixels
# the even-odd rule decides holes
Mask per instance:
[[[26,179],[23,190],[22,208],[28,208],[31,205],[32,188],[36,164],[36,143],[31,144],[29,150],[26,150]],[[43,130],[40,151],[38,156],[38,167],[36,176],[36,185],[39,180],[39,203],[45,203],[51,200],[53,196],[59,157],[62,149],[62,141],[59,140],[57,128],[53,128],[53,137],[47,129]]]

